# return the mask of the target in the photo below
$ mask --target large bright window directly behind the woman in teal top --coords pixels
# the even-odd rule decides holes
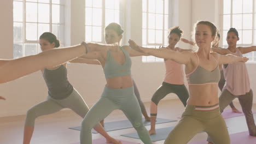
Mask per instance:
[[[85,0],[85,41],[104,43],[104,28],[120,21],[121,0]]]

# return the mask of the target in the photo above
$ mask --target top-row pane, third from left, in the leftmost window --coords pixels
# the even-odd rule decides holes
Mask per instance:
[[[50,22],[50,5],[38,4],[38,22],[49,23]]]

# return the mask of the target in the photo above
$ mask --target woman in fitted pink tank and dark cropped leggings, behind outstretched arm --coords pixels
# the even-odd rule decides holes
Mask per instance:
[[[181,38],[183,31],[179,27],[172,27],[169,30],[168,34],[168,47],[167,49],[171,51],[191,51],[191,50],[183,50],[179,47],[175,47]],[[162,85],[156,90],[154,93],[151,103],[150,103],[150,121],[151,128],[149,130],[149,134],[156,134],[155,131],[155,122],[156,115],[158,112],[158,103],[161,99],[163,99],[167,94],[174,93],[178,95],[178,98],[182,101],[183,105],[187,105],[187,100],[189,97],[189,93],[187,88],[184,85],[184,71],[183,65],[176,63],[170,59],[164,59],[165,61],[165,79],[162,82]]]

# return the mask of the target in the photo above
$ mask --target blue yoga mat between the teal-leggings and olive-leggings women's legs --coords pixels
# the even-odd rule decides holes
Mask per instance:
[[[167,128],[160,128],[160,129],[156,129],[156,134],[154,135],[150,135],[151,140],[152,141],[161,141],[161,140],[165,140],[166,137],[168,136],[168,134],[172,131],[174,127],[167,127]],[[203,133],[203,131],[200,131],[199,133]],[[131,137],[134,139],[139,139],[139,136],[137,134],[137,132],[135,133],[130,133],[130,134],[125,134],[125,135],[121,135],[121,136],[126,136],[126,137]]]

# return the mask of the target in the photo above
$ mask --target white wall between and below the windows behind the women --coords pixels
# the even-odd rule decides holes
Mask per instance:
[[[125,17],[124,44],[132,38],[141,44],[141,0],[131,0],[126,5],[126,12],[131,14]],[[70,44],[78,44],[84,40],[84,1],[70,1],[68,9],[71,11],[70,23],[66,25],[70,32],[66,32],[66,40]],[[209,20],[219,25],[218,0],[174,0],[172,4],[173,26],[180,26],[184,31],[184,38],[191,38],[193,24],[197,20]],[[13,2],[4,0],[0,5],[0,57],[13,57]],[[130,29],[130,30],[129,30]],[[180,43],[179,47],[189,48],[187,44]],[[143,101],[149,101],[155,90],[160,86],[165,74],[164,63],[142,63],[141,57],[132,58],[132,76],[141,93]],[[253,72],[255,64],[247,64],[251,87],[256,91],[256,77]],[[19,71],[10,71],[19,73]],[[86,103],[91,106],[100,98],[106,83],[102,68],[98,65],[68,64],[68,76],[72,85],[82,94]],[[47,88],[40,72],[28,75],[21,79],[1,84],[0,95],[7,98],[0,101],[0,117],[24,115],[33,105],[46,99]],[[174,95],[166,99],[177,98]],[[254,103],[256,99],[254,96]]]

